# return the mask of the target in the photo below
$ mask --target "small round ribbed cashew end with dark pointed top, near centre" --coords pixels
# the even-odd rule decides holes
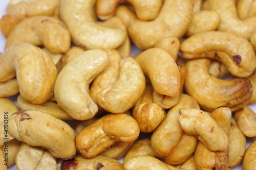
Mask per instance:
[[[141,132],[152,132],[165,117],[165,110],[153,102],[151,85],[147,84],[140,99],[133,106],[133,117]]]

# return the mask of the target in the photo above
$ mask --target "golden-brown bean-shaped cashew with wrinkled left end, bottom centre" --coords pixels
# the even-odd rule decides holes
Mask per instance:
[[[132,116],[124,113],[109,114],[77,134],[76,148],[83,157],[92,158],[116,142],[136,140],[139,133],[139,125]]]

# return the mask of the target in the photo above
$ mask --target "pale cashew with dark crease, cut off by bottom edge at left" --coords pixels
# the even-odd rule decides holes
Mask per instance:
[[[15,164],[19,170],[56,169],[56,158],[45,148],[32,147],[26,143],[20,145]]]

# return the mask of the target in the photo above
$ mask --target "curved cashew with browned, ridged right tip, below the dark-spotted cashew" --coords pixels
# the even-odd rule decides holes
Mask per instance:
[[[252,85],[248,79],[235,78],[221,80],[208,73],[210,59],[187,61],[185,91],[196,99],[201,108],[213,111],[219,106],[227,106],[231,111],[248,104],[252,95]]]

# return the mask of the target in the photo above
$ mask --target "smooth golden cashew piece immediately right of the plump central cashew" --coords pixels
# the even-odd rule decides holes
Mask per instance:
[[[136,55],[144,75],[151,80],[156,93],[177,97],[180,94],[180,72],[172,56],[154,47]]]

